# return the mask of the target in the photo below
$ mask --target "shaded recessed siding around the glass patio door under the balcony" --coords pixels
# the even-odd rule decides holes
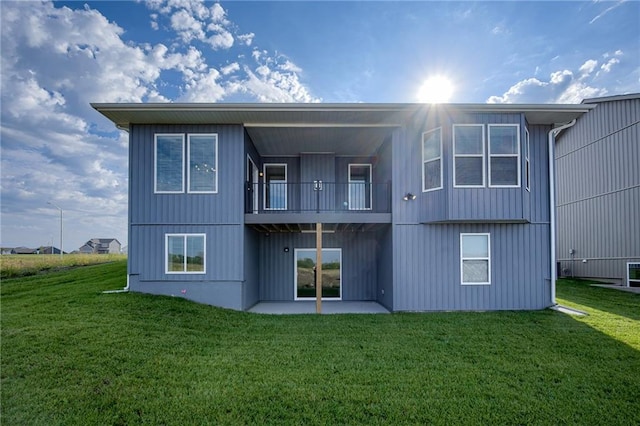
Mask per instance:
[[[294,300],[295,249],[315,248],[315,238],[299,233],[260,235],[261,300]],[[324,234],[322,246],[342,249],[342,300],[376,300],[377,235]]]

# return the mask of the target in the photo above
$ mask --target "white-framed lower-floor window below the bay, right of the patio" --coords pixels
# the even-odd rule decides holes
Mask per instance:
[[[460,277],[463,285],[491,284],[489,234],[460,234]]]

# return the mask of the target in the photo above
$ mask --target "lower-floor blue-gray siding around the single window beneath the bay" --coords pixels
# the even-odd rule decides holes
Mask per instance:
[[[491,235],[491,284],[462,285],[460,233]],[[393,309],[542,309],[551,305],[549,227],[394,225]]]

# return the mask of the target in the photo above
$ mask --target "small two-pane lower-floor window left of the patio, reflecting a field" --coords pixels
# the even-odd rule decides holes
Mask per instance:
[[[205,234],[166,234],[167,274],[205,273]]]

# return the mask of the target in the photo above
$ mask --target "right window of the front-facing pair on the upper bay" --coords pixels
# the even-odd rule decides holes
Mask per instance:
[[[489,186],[520,186],[520,126],[489,124]]]

